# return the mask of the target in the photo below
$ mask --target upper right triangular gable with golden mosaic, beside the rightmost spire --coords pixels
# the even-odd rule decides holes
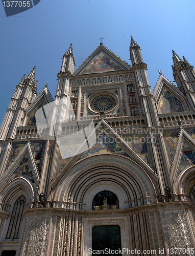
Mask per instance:
[[[155,88],[154,98],[160,114],[187,109],[183,93],[162,75]]]

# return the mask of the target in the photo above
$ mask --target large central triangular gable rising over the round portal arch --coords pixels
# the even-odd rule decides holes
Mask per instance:
[[[92,133],[89,138],[89,143],[84,143],[81,148],[83,148],[83,153],[76,154],[76,156],[69,159],[67,164],[64,168],[62,168],[59,174],[53,179],[51,186],[56,186],[61,178],[65,175],[64,170],[70,169],[73,165],[75,165],[78,161],[82,161],[85,157],[90,157],[93,154],[119,154],[121,156],[126,156],[135,161],[139,164],[145,172],[149,174],[149,176],[157,181],[157,176],[154,173],[154,170],[147,164],[127,143],[126,141],[121,138],[104,120],[102,120],[96,127],[95,127],[95,140],[94,134]],[[105,133],[105,135],[104,135]],[[99,143],[96,144],[97,138],[100,136]],[[104,142],[106,141],[106,143]],[[101,145],[101,142],[102,145]],[[87,146],[88,144],[88,146]],[[101,145],[101,146],[100,146]],[[98,147],[99,152],[96,150]],[[79,152],[81,149],[79,148]]]

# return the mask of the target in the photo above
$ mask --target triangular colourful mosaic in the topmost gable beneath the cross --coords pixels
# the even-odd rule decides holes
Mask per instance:
[[[112,60],[109,55],[101,51],[92,60],[92,62],[87,66],[86,69],[82,71],[82,74],[97,73],[97,72],[107,72],[114,70],[122,70],[122,68]]]

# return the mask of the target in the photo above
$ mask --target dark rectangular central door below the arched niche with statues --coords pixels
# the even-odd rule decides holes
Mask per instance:
[[[101,253],[102,256],[121,255],[120,253],[118,253],[118,250],[121,250],[119,225],[94,226],[92,228],[92,250],[102,250],[103,252],[105,251],[105,249],[113,250],[112,254]],[[113,253],[114,251],[116,251],[116,253]]]

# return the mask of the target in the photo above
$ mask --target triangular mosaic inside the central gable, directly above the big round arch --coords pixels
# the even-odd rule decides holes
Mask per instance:
[[[116,143],[116,141],[103,129],[99,134],[96,136],[96,142],[92,142],[88,150],[85,151],[81,158],[90,156],[92,154],[119,154],[128,156],[124,150]]]

